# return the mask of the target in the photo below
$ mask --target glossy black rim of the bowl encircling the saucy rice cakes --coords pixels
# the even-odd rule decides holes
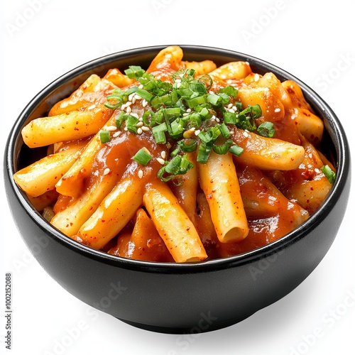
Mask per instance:
[[[251,263],[252,261],[257,261],[261,258],[266,258],[267,256],[270,256],[274,253],[279,253],[290,244],[305,238],[305,236],[307,236],[307,234],[312,231],[312,229],[315,229],[315,227],[320,224],[324,218],[327,217],[327,214],[329,214],[330,210],[334,207],[334,204],[336,204],[337,200],[339,200],[339,197],[342,194],[342,190],[344,189],[344,185],[346,184],[346,180],[350,173],[349,143],[346,138],[346,133],[344,132],[342,124],[340,123],[337,115],[334,113],[334,111],[332,111],[329,105],[324,102],[324,99],[322,99],[319,94],[317,94],[313,89],[311,89],[307,84],[299,80],[297,77],[291,75],[289,72],[271,64],[270,62],[267,62],[266,60],[261,60],[252,55],[247,55],[235,50],[208,47],[203,45],[179,46],[182,48],[184,53],[199,52],[206,54],[206,59],[209,59],[209,54],[214,53],[214,55],[217,56],[222,55],[222,57],[231,57],[235,60],[245,60],[251,64],[251,67],[254,65],[257,67],[263,67],[267,71],[272,71],[279,79],[282,78],[283,80],[293,80],[300,85],[302,92],[305,94],[307,102],[311,101],[310,104],[313,107],[317,107],[318,111],[322,111],[324,126],[331,136],[331,139],[334,143],[334,148],[337,153],[337,179],[335,180],[332,189],[327,195],[326,199],[324,202],[322,202],[320,208],[317,209],[315,214],[313,214],[309,219],[300,224],[300,226],[297,226],[297,228],[295,228],[293,231],[290,231],[288,234],[285,234],[285,236],[282,236],[280,239],[273,241],[270,244],[266,244],[265,246],[261,246],[257,249],[253,249],[251,251],[247,251],[235,256],[200,261],[198,263],[138,261],[120,256],[114,256],[104,251],[97,251],[90,248],[89,246],[80,244],[70,237],[65,236],[65,234],[62,234],[61,231],[50,225],[49,222],[45,221],[40,213],[34,209],[24,192],[16,185],[12,178],[13,173],[16,171],[16,146],[18,146],[18,144],[20,144],[19,141],[22,140],[20,133],[27,117],[31,114],[35,107],[38,107],[40,102],[42,102],[45,97],[53,93],[55,89],[61,87],[63,84],[65,84],[65,82],[67,82],[67,80],[70,80],[72,77],[77,77],[78,75],[87,73],[90,70],[99,68],[101,65],[108,65],[114,60],[122,60],[123,58],[127,58],[133,55],[158,53],[163,48],[168,47],[168,45],[152,45],[147,47],[122,50],[109,55],[104,55],[94,60],[90,60],[89,62],[85,62],[84,64],[66,72],[48,84],[46,87],[41,89],[40,92],[38,92],[38,94],[36,94],[35,97],[33,97],[33,99],[28,102],[26,107],[23,109],[23,111],[21,111],[21,114],[18,115],[15,123],[13,124],[13,127],[9,133],[8,140],[6,142],[4,159],[4,164],[6,164],[6,167],[4,168],[4,173],[8,174],[7,178],[10,181],[13,193],[16,195],[16,198],[20,202],[21,206],[26,210],[26,213],[31,217],[31,219],[33,219],[33,222],[38,224],[38,226],[40,226],[40,228],[43,229],[43,231],[45,231],[48,236],[50,236],[50,238],[55,239],[55,241],[58,241],[58,243],[63,244],[64,246],[67,246],[68,248],[72,249],[72,251],[84,254],[85,256],[89,256],[96,261],[108,263],[119,268],[129,268],[143,272],[161,273],[200,273],[212,270],[216,271],[224,268],[231,268],[233,266],[240,266]],[[136,63],[134,62],[132,63],[132,65],[135,64]],[[13,217],[16,218],[15,216]]]

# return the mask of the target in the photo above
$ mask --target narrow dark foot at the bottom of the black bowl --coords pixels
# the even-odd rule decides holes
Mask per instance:
[[[198,325],[194,327],[186,327],[186,328],[185,327],[160,327],[157,325],[143,324],[143,323],[131,322],[129,320],[122,320],[121,318],[117,318],[117,320],[120,320],[121,322],[129,324],[136,328],[148,330],[150,332],[157,332],[157,333],[164,333],[164,334],[197,334],[197,333],[212,332],[214,330],[231,327],[231,325],[242,322],[246,320],[246,318],[249,318],[251,315],[253,315],[253,313],[245,315],[244,317],[234,318],[233,320],[228,320],[226,322],[217,322],[217,323],[213,322],[212,324],[209,324],[208,327],[204,327],[206,329],[202,329]]]

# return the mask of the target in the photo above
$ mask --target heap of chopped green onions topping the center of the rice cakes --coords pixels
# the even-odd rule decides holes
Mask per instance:
[[[141,134],[143,130],[151,131],[156,144],[168,142],[173,146],[170,160],[165,161],[158,173],[163,181],[185,174],[192,168],[186,153],[197,151],[198,163],[207,163],[212,149],[217,154],[230,152],[241,155],[243,148],[230,139],[228,124],[256,131],[266,137],[273,137],[275,133],[271,122],[256,126],[256,119],[262,115],[260,106],[243,108],[241,102],[236,101],[238,89],[235,87],[227,85],[217,92],[211,92],[213,80],[209,75],[195,78],[195,70],[182,69],[172,75],[173,83],[170,83],[155,79],[154,75],[137,65],[131,65],[125,73],[138,80],[139,87],[133,85],[126,91],[114,89],[107,96],[105,107],[119,109],[129,101],[129,96],[133,93],[149,103],[148,107],[142,104],[146,109],[140,113],[140,119],[122,107],[122,111],[116,116],[116,126],[121,128],[125,121],[127,131],[136,134]],[[141,126],[143,130],[137,126]],[[108,142],[109,131],[100,132],[100,140],[103,143]],[[146,165],[151,155],[141,149],[133,159]]]

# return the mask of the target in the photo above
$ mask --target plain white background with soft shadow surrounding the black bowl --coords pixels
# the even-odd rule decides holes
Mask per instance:
[[[11,126],[40,89],[84,62],[146,45],[216,46],[272,62],[321,94],[351,137],[355,21],[349,4],[1,0],[1,169]],[[355,354],[354,197],[353,189],[327,256],[297,289],[240,324],[181,337],[136,329],[63,290],[28,253],[1,184],[0,312],[5,273],[13,279],[9,354]]]

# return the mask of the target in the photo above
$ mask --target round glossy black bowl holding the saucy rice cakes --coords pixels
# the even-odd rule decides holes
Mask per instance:
[[[274,65],[231,50],[182,45],[185,60],[217,65],[246,60],[253,72],[274,72],[294,80],[324,120],[323,146],[337,167],[337,180],[320,209],[278,241],[237,256],[202,263],[134,261],[95,251],[67,238],[35,211],[13,181],[28,164],[21,129],[48,113],[84,80],[111,67],[147,67],[165,46],[107,55],[81,65],[45,87],[16,120],[5,152],[6,193],[18,229],[41,266],[67,291],[92,307],[136,327],[158,332],[207,332],[234,324],[284,297],[300,285],[332,245],[350,190],[350,153],[342,124],[315,92]],[[41,153],[40,151],[38,152]]]

